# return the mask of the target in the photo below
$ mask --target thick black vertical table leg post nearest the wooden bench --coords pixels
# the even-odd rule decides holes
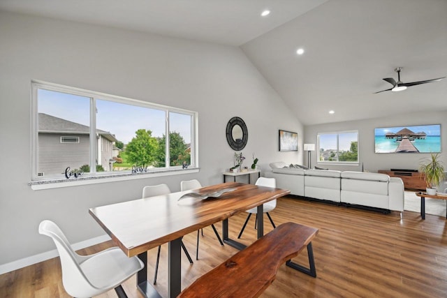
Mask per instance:
[[[177,297],[182,292],[181,246],[182,237],[168,244],[168,297]]]

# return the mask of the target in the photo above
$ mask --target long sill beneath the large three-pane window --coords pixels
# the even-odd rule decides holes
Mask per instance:
[[[105,175],[97,175],[90,177],[79,177],[70,179],[49,179],[49,180],[36,180],[28,183],[31,186],[31,189],[34,191],[39,191],[41,189],[50,189],[50,188],[62,188],[69,186],[81,186],[88,184],[99,184],[99,183],[108,183],[108,182],[116,182],[116,181],[126,181],[126,180],[134,180],[134,179],[145,179],[150,177],[161,177],[161,176],[172,176],[179,175],[185,173],[197,173],[199,172],[198,167],[191,167],[188,169],[178,169],[178,170],[158,170],[152,172],[143,172],[143,173],[121,173],[121,174],[105,174]]]

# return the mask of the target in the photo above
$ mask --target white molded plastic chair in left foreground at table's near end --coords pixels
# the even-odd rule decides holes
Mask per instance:
[[[93,255],[78,255],[52,221],[42,221],[39,233],[52,238],[56,244],[61,258],[62,283],[73,297],[93,297],[112,288],[119,297],[127,297],[121,284],[145,267],[140,259],[127,257],[118,247]]]

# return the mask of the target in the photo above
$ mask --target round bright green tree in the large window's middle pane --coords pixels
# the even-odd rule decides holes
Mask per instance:
[[[142,167],[154,165],[158,152],[159,142],[152,137],[152,131],[145,129],[138,129],[135,137],[126,146],[127,160]]]

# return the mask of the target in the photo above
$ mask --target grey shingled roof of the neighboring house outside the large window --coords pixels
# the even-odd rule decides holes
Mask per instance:
[[[78,124],[44,113],[38,113],[38,126],[39,133],[88,134],[90,131],[89,126]],[[101,131],[101,129],[96,129],[96,133],[102,135],[107,140],[110,140],[110,142],[118,141],[115,135],[112,135],[108,131]]]

